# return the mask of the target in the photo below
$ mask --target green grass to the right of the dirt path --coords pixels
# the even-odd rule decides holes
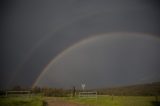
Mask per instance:
[[[75,97],[65,100],[87,106],[160,106],[160,101],[156,102],[154,96],[98,96],[97,99]]]

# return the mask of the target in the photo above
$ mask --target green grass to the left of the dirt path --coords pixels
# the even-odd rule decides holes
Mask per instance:
[[[43,106],[41,97],[1,97],[1,106]]]

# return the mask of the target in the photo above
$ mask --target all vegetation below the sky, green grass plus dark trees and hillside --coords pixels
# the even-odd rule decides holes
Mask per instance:
[[[78,104],[86,104],[91,106],[160,106],[160,82],[134,85],[127,87],[116,87],[106,89],[96,89],[98,91],[97,99],[79,98],[71,93],[78,89],[57,89],[57,88],[40,88],[32,89],[15,86],[13,91],[31,91],[32,96],[28,97],[25,94],[17,94],[17,96],[7,96],[6,91],[0,90],[0,105],[1,106],[43,106],[46,103],[44,98],[57,98],[66,102],[74,102]],[[89,91],[89,90],[88,90]],[[91,90],[92,91],[92,90]],[[43,97],[42,97],[43,96]],[[55,99],[54,99],[55,100]],[[56,99],[57,100],[57,99]]]

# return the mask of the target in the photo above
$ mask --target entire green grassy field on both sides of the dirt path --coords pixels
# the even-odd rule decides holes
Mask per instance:
[[[0,106],[43,106],[46,97],[1,97]],[[55,97],[50,97],[55,100]],[[160,106],[154,96],[98,96],[96,98],[58,97],[62,101],[84,104],[85,106]],[[58,100],[57,99],[57,100]],[[160,97],[159,97],[160,99]]]

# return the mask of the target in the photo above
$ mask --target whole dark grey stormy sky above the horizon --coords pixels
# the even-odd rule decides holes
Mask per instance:
[[[117,70],[126,70],[136,78],[139,73],[135,70],[145,73],[146,67],[148,70],[144,75],[147,79],[146,82],[159,81],[160,56],[158,53],[160,52],[160,41],[157,40],[160,39],[159,5],[159,2],[153,0],[1,1],[0,87],[7,88],[15,85],[31,87],[48,64],[51,64],[52,60],[62,54],[63,51],[68,50],[67,48],[85,39],[94,39],[94,36],[102,35],[106,36],[95,38],[96,41],[78,46],[63,55],[64,57],[61,57],[55,63],[56,66],[53,64],[52,67],[47,69],[48,71],[42,77],[43,80],[39,82],[39,85],[51,87],[78,86],[82,77],[77,79],[75,77],[74,80],[79,82],[72,83],[69,77],[74,74],[64,78],[58,77],[62,74],[68,76],[70,68],[74,69],[76,67],[77,72],[83,73],[85,71],[87,73],[84,79],[86,79],[86,83],[88,82],[88,87],[134,84],[137,81],[129,77],[123,80],[124,75],[121,75]],[[120,34],[121,37],[117,37],[117,34],[114,33]],[[115,36],[108,38],[107,35],[108,37]],[[116,40],[117,38],[119,40]],[[110,45],[108,45],[109,42]],[[119,43],[120,45],[117,45]],[[100,45],[102,47],[99,47]],[[113,46],[115,49],[112,51],[110,48]],[[126,51],[130,51],[129,54]],[[127,55],[118,55],[123,53]],[[82,60],[79,61],[80,57],[86,55],[88,60],[81,58]],[[118,56],[115,57],[115,55]],[[138,67],[137,64],[134,67],[135,70],[127,71],[128,68],[133,67],[129,67],[131,62],[126,62],[129,61],[127,59],[133,60],[133,63],[137,62],[132,56],[139,57],[138,63],[142,66]],[[111,62],[113,58],[117,60],[117,63]],[[68,59],[71,59],[71,61],[66,62]],[[113,61],[115,61],[114,59]],[[80,64],[81,62],[83,64]],[[95,65],[92,65],[92,63]],[[112,65],[119,67],[118,63],[127,66],[126,69],[111,67]],[[68,64],[77,66],[72,67]],[[84,65],[87,66],[83,69]],[[98,71],[93,70],[95,66],[97,66]],[[101,69],[102,67],[103,69]],[[112,71],[104,71],[110,67]],[[64,71],[64,69],[66,70]],[[47,77],[47,73],[51,76]],[[90,73],[93,73],[93,77],[87,81]],[[95,79],[94,75],[97,75],[97,73],[99,76],[96,79],[104,78],[103,75],[110,74],[122,80],[115,81],[111,78],[108,81],[104,78],[104,81],[98,81],[99,83],[94,84],[95,81],[92,81],[92,79]],[[50,80],[46,81],[45,78],[50,78]],[[68,80],[68,82],[65,80]],[[101,83],[105,80],[108,85]],[[55,81],[60,83],[55,83]]]

